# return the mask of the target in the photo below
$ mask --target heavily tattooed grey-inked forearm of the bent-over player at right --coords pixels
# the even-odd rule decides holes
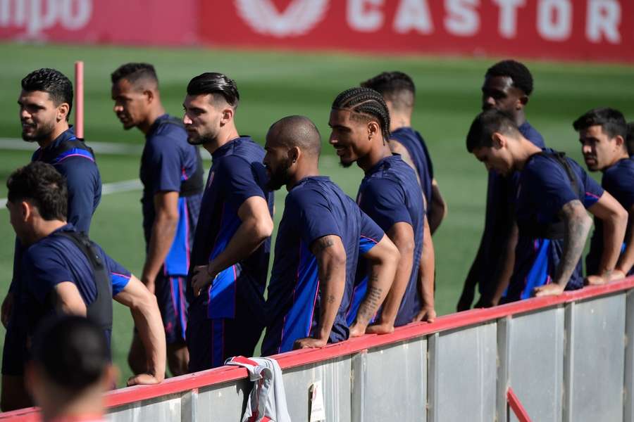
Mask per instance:
[[[592,219],[585,212],[585,207],[578,199],[571,200],[561,207],[559,218],[564,221],[564,251],[561,255],[561,262],[555,270],[553,282],[535,288],[535,296],[563,293],[579,262],[590,226],[592,226]]]

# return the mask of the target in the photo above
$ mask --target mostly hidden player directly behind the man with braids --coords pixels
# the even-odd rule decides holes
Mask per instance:
[[[383,72],[361,82],[361,87],[378,91],[387,104],[387,110],[390,111],[390,141],[387,145],[416,170],[427,201],[430,233],[434,234],[447,215],[447,204],[440,195],[423,136],[411,127],[411,113],[414,112],[416,97],[414,81],[403,72]]]

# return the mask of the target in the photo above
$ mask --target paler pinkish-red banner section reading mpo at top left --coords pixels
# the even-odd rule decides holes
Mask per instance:
[[[197,5],[197,0],[0,0],[0,39],[194,44]]]

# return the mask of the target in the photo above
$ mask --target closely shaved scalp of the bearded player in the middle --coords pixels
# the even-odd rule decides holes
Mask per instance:
[[[304,116],[284,117],[271,125],[267,139],[289,148],[297,146],[304,154],[318,157],[321,135],[315,124]]]

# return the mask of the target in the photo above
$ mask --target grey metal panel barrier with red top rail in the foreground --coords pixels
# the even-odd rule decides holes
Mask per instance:
[[[516,421],[508,392],[533,421],[634,422],[633,338],[630,277],[276,358],[293,421],[309,420],[321,381],[327,421]],[[108,419],[240,421],[250,388],[245,369],[223,366],[110,392]]]

